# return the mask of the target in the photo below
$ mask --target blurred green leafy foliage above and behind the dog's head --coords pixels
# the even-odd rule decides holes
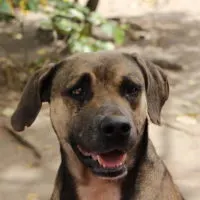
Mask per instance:
[[[0,0],[0,19],[17,18],[16,10],[47,15],[40,28],[55,32],[57,38],[66,42],[69,53],[110,50],[124,42],[126,25],[107,20],[87,7],[66,0]],[[107,35],[104,39],[93,35],[98,28]]]

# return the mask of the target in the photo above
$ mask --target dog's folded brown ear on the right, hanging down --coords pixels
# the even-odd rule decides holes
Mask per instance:
[[[137,54],[130,56],[144,75],[149,117],[154,124],[160,125],[161,109],[169,96],[167,76],[152,62],[140,58]]]

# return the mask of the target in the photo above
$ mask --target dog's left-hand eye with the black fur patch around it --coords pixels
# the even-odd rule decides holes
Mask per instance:
[[[84,74],[71,88],[61,92],[62,96],[68,96],[80,103],[88,102],[92,98],[91,77]]]

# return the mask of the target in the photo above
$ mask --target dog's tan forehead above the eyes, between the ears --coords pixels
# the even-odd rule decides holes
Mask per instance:
[[[80,53],[70,56],[65,60],[57,79],[58,82],[70,84],[84,73],[93,74],[100,81],[119,82],[122,77],[129,76],[136,82],[144,82],[137,63],[118,52]]]

